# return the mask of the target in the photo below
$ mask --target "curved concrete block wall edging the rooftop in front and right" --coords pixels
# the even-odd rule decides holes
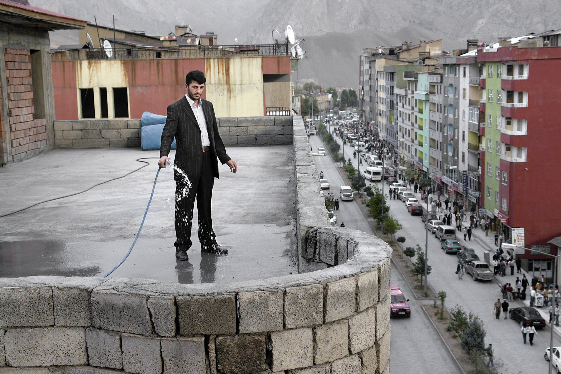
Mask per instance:
[[[389,373],[391,249],[328,227],[298,136],[299,266],[320,270],[193,285],[0,278],[0,366],[40,374]]]

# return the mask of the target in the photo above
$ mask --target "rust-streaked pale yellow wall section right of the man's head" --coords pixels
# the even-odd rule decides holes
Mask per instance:
[[[264,115],[260,56],[207,58],[205,70],[206,99],[212,101],[217,117]]]

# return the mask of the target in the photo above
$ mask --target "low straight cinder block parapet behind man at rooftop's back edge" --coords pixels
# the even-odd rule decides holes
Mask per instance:
[[[292,117],[217,118],[227,146],[292,143]],[[54,121],[54,146],[59,148],[140,147],[140,119],[77,119]]]

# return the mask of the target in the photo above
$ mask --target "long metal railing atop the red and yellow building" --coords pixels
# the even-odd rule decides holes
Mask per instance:
[[[176,48],[113,48],[110,58],[102,49],[53,49],[54,61],[96,59],[155,59],[235,56],[290,56],[288,44],[187,45]]]

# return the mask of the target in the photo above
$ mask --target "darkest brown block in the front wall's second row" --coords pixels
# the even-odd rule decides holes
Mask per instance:
[[[268,368],[264,335],[218,336],[217,370],[223,374],[251,374]]]

